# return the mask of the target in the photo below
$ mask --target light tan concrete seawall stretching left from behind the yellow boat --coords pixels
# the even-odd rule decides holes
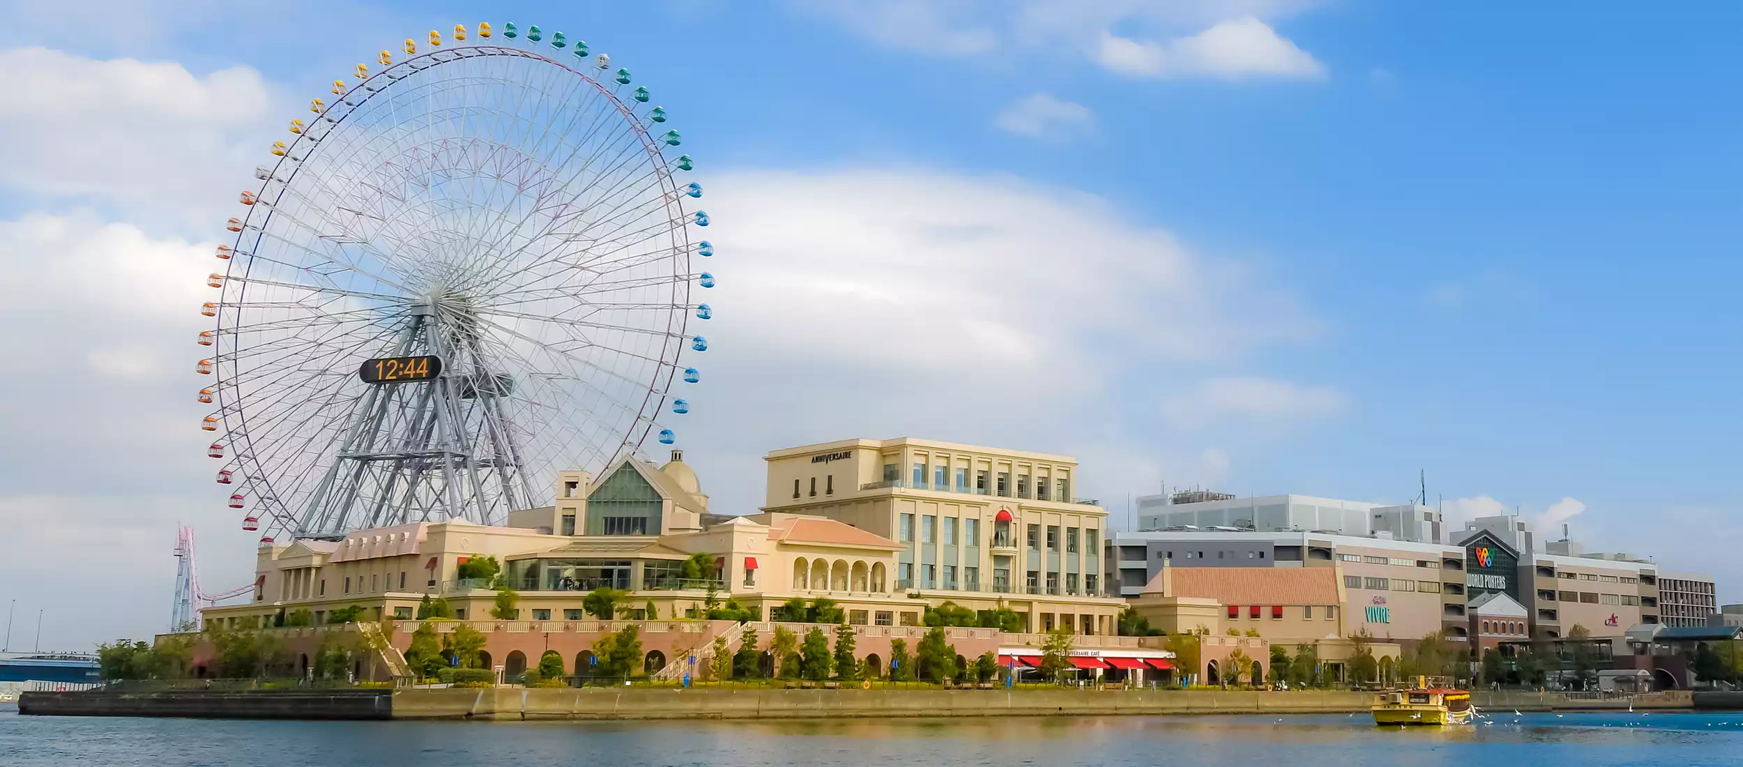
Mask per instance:
[[[1367,711],[1365,692],[1150,690],[399,690],[394,718],[675,720],[1103,716]]]

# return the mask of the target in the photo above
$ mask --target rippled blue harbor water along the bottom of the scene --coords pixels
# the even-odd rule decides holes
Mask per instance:
[[[1373,727],[1367,715],[826,722],[248,722],[19,716],[9,767],[260,765],[1288,765],[1743,764],[1743,711],[1487,715]]]

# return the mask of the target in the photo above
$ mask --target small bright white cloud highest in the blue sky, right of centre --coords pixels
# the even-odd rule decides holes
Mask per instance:
[[[1255,17],[1161,44],[1103,33],[1100,63],[1122,75],[1157,78],[1325,77],[1319,61]]]

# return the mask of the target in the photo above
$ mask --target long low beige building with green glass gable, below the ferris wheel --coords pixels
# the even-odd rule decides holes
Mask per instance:
[[[582,603],[600,587],[629,593],[615,615],[626,619],[706,617],[709,598],[736,600],[758,619],[774,619],[777,607],[802,598],[835,601],[851,624],[919,626],[927,607],[953,600],[976,610],[1007,605],[1028,626],[1100,635],[1112,633],[1119,610],[1116,600],[1084,594],[1030,598],[967,589],[974,577],[960,570],[955,589],[913,589],[898,579],[903,554],[913,546],[870,525],[854,526],[809,509],[711,514],[682,451],[673,451],[666,465],[624,458],[603,481],[560,472],[556,483],[554,506],[516,511],[507,526],[453,519],[357,530],[342,540],[265,544],[253,600],[204,610],[204,619],[270,626],[309,610],[321,624],[333,610],[354,605],[371,619],[413,619],[425,596],[448,600],[457,619],[488,619],[493,584],[460,577],[462,563],[483,556],[497,558],[504,582],[519,593],[511,619],[535,622],[591,619]],[[1100,509],[1093,511],[1098,530]],[[1041,512],[1027,518],[1046,519]],[[1079,518],[1070,519],[1082,526]],[[1065,516],[1051,519],[1063,523]],[[933,556],[943,551],[926,561],[936,563]],[[711,577],[697,572],[697,561],[713,565]],[[910,596],[915,593],[922,598]]]

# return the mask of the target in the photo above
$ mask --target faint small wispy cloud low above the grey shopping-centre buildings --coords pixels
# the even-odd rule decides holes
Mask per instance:
[[[1333,387],[1304,387],[1257,375],[1206,378],[1190,392],[1166,397],[1163,413],[1180,425],[1245,418],[1269,425],[1323,418],[1344,410]]]

